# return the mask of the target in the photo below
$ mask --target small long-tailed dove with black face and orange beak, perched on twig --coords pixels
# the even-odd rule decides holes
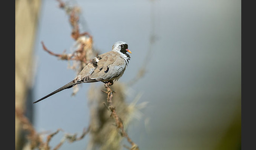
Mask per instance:
[[[92,83],[92,82],[103,82],[113,85],[113,81],[117,81],[122,77],[128,63],[130,60],[130,52],[128,45],[124,41],[117,41],[113,44],[112,50],[101,55],[98,55],[88,63],[80,73],[67,84],[63,85],[61,88],[53,91],[52,93],[46,95],[45,97],[33,102],[40,102],[53,94],[56,94],[62,90],[74,87],[76,84],[80,83]]]

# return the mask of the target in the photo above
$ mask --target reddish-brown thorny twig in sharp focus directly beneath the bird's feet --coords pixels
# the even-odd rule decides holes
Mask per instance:
[[[119,130],[119,133],[121,134],[121,136],[125,137],[127,139],[127,142],[129,142],[132,147],[128,147],[128,146],[124,146],[125,148],[131,149],[131,150],[139,150],[139,146],[137,146],[137,144],[135,144],[131,138],[127,135],[127,133],[124,130],[124,125],[123,125],[123,121],[122,119],[117,115],[116,110],[115,110],[115,106],[113,106],[112,104],[112,98],[113,98],[113,90],[110,88],[111,83],[105,83],[104,87],[106,88],[107,91],[103,91],[107,94],[107,106],[109,108],[109,110],[111,111],[111,115],[113,116],[114,120],[115,120],[115,124],[117,127],[117,130]]]

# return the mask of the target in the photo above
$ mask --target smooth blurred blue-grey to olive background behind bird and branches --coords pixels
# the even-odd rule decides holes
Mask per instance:
[[[65,133],[80,135],[88,126],[88,91],[103,83],[85,83],[74,96],[68,89],[32,105],[76,76],[68,68],[71,62],[47,53],[41,41],[60,54],[72,53],[75,41],[58,1],[15,2],[15,105],[24,108],[38,133],[62,128],[50,142],[54,147]],[[241,149],[241,1],[63,2],[81,8],[81,30],[92,35],[99,53],[110,51],[118,40],[127,42],[131,60],[118,82],[131,83],[145,71],[125,89],[126,103],[136,108],[127,134],[140,149]],[[33,9],[21,7],[32,3]],[[34,18],[32,27],[28,21],[18,24],[26,11]],[[21,44],[29,34],[32,50],[22,56],[26,47]],[[18,60],[28,58],[29,71],[17,73],[24,70]],[[28,72],[22,96],[17,88],[24,80],[19,83],[16,76]],[[20,97],[25,104],[19,104]],[[65,142],[60,149],[86,149],[89,138]]]

